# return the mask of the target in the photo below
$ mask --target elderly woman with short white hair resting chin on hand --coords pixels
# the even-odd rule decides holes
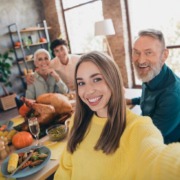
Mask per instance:
[[[45,49],[38,49],[34,53],[34,82],[27,85],[26,98],[36,99],[44,93],[67,93],[68,88],[56,71],[50,68],[50,54]]]

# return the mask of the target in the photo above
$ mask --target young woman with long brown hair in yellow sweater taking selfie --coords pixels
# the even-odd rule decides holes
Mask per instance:
[[[180,177],[180,144],[165,145],[149,117],[126,110],[119,69],[91,52],[75,70],[76,111],[55,179]]]

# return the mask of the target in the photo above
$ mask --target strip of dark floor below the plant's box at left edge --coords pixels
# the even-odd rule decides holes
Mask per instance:
[[[0,110],[0,122],[8,121],[17,115],[18,115],[17,108],[13,108],[13,109],[6,110],[6,111]]]

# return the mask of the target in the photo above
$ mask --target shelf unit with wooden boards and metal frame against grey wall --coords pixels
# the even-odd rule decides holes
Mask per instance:
[[[33,54],[37,49],[48,49],[48,43],[50,42],[48,30],[51,29],[51,27],[48,27],[46,20],[43,20],[41,23],[23,29],[19,29],[18,25],[13,23],[8,26],[8,29],[8,35],[11,38],[12,47],[14,49],[16,65],[18,66],[20,74],[19,78],[24,89],[26,89],[26,80],[24,76],[21,75],[31,70],[29,69],[30,67],[34,68]],[[40,42],[40,38],[42,37],[46,39],[46,42]],[[19,46],[15,46],[16,42],[20,42],[20,44],[17,44]],[[30,52],[28,52],[28,50],[30,50]],[[32,55],[32,57],[30,55]]]

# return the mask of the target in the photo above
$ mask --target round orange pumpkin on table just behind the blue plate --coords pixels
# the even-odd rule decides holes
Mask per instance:
[[[29,132],[21,131],[13,136],[12,144],[16,149],[21,149],[30,146],[33,142],[33,137]]]

